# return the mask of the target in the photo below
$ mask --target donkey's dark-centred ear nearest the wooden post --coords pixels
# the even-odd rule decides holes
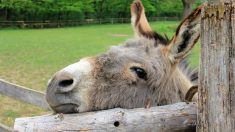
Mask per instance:
[[[178,26],[175,35],[170,41],[168,49],[172,61],[183,59],[193,48],[200,37],[200,20],[202,6],[195,9]]]

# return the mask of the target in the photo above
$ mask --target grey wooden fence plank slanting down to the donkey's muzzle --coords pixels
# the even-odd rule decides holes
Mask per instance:
[[[0,94],[13,97],[26,103],[49,109],[45,94],[0,79]]]

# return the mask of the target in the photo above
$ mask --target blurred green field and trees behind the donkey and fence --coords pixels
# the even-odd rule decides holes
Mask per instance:
[[[142,0],[150,25],[171,38],[205,0]],[[0,0],[0,79],[45,92],[61,68],[133,37],[132,0]],[[200,46],[190,56],[198,66]],[[51,113],[0,93],[0,123]]]

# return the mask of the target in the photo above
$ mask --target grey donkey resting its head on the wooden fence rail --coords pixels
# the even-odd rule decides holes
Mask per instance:
[[[200,36],[201,8],[183,20],[169,40],[151,29],[141,1],[135,0],[135,37],[55,73],[46,93],[50,107],[57,113],[78,113],[184,101],[197,81],[197,70],[189,68],[186,56]]]

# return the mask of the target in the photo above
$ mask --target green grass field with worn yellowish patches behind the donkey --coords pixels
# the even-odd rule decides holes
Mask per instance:
[[[154,22],[153,29],[172,36],[178,22]],[[59,69],[81,57],[104,52],[110,45],[131,38],[129,24],[89,25],[60,29],[0,30],[0,78],[45,91],[47,80]],[[199,46],[191,56],[198,64]],[[14,119],[47,112],[0,95],[0,122],[12,126]]]

